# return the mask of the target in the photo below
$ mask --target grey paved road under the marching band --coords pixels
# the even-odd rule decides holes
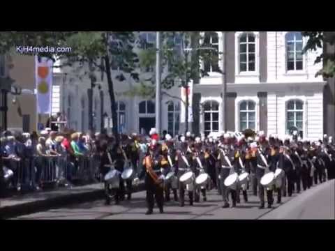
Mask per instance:
[[[100,219],[100,220],[252,220],[275,218],[305,218],[305,219],[334,219],[334,181],[317,185],[311,190],[295,194],[292,197],[283,197],[283,204],[274,204],[272,209],[258,209],[259,200],[249,192],[249,201],[237,204],[237,208],[221,208],[221,196],[216,190],[209,192],[206,202],[200,202],[194,206],[179,207],[177,202],[171,201],[165,204],[165,213],[158,213],[154,209],[153,215],[144,215],[147,210],[145,204],[145,192],[137,192],[131,201],[121,201],[121,205],[105,206],[103,200],[75,204],[49,211],[22,215],[16,219]],[[333,189],[333,190],[332,190]],[[276,197],[275,197],[276,199]],[[187,202],[187,201],[186,201]],[[303,213],[296,213],[294,209],[303,208]],[[308,209],[306,209],[308,208]],[[299,211],[301,211],[299,209]],[[279,212],[279,213],[278,213]],[[313,213],[314,212],[314,213]],[[329,213],[330,212],[330,213]],[[268,217],[269,215],[269,217]],[[318,216],[316,216],[318,215]],[[311,217],[310,217],[311,216]]]

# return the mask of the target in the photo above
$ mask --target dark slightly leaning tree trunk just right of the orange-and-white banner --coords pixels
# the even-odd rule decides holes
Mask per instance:
[[[106,68],[106,76],[107,76],[107,84],[108,84],[108,93],[110,93],[110,109],[112,111],[112,121],[113,128],[112,132],[116,139],[117,144],[119,144],[119,133],[117,128],[117,106],[115,102],[114,96],[114,85],[112,81],[112,73],[110,71],[110,57],[108,55],[104,56],[105,59],[105,68]]]

